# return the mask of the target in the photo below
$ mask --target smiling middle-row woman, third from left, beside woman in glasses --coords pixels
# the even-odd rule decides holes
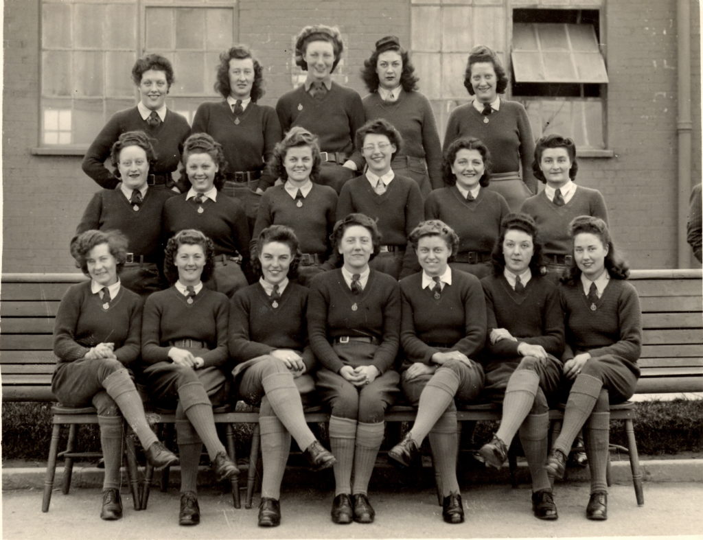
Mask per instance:
[[[269,225],[287,225],[295,230],[302,251],[297,282],[305,286],[314,275],[334,266],[330,261],[330,235],[335,225],[337,192],[314,181],[321,163],[317,141],[307,129],[296,126],[276,145],[269,168],[283,185],[264,193],[251,246],[255,253],[257,238]]]

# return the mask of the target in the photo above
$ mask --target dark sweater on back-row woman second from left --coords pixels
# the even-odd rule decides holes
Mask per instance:
[[[262,171],[259,185],[266,189],[276,178],[264,169],[282,136],[273,107],[250,102],[239,122],[226,100],[201,103],[193,118],[192,133],[208,133],[222,145],[227,172]]]

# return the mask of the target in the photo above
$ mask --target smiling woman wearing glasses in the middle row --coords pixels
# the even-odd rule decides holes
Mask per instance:
[[[371,268],[395,279],[410,275],[414,261],[411,253],[406,254],[408,235],[425,212],[418,184],[391,169],[391,160],[403,140],[398,130],[382,118],[361,126],[356,140],[366,159],[366,173],[342,187],[337,219],[358,212],[375,220],[384,244]]]

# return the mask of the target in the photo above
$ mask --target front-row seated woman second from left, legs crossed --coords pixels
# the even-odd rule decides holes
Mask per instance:
[[[198,463],[202,444],[219,478],[239,470],[217,437],[212,405],[227,400],[227,297],[203,287],[214,267],[212,241],[186,229],[169,239],[164,270],[173,286],[147,298],[142,322],[142,379],[160,407],[176,409],[181,456],[179,525],[200,522]]]

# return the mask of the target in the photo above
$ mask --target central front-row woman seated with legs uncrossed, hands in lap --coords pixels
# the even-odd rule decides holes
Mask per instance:
[[[317,390],[330,408],[330,446],[337,459],[335,523],[373,522],[368,481],[383,440],[385,410],[398,393],[400,294],[395,279],[369,268],[380,251],[373,219],[352,213],[337,221],[342,268],[316,275],[308,310],[310,346],[321,364]],[[352,482],[352,476],[354,482]]]

